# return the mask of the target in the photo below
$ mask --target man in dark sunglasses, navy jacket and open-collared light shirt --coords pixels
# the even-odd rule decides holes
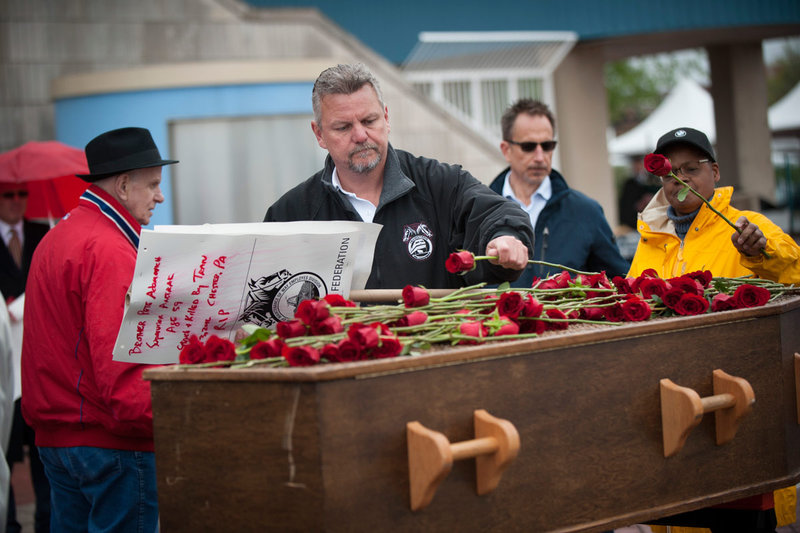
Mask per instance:
[[[503,114],[501,127],[500,150],[509,166],[490,188],[514,200],[530,216],[533,258],[577,270],[604,270],[609,277],[624,275],[628,262],[617,248],[600,204],[570,189],[553,169],[556,124],[547,105],[519,100]],[[512,285],[530,287],[534,277],[557,272],[556,268],[529,265]]]

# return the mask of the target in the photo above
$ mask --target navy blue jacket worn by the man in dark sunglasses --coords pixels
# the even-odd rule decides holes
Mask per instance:
[[[489,186],[503,194],[508,168]],[[564,177],[552,170],[550,182],[553,195],[539,218],[534,233],[534,260],[556,263],[576,270],[600,272],[609,279],[624,276],[630,264],[623,259],[608,226],[603,208],[585,194],[570,189]],[[530,287],[534,276],[544,278],[557,274],[559,269],[529,265],[512,286]]]

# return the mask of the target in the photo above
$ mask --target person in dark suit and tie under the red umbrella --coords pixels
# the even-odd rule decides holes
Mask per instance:
[[[38,224],[24,218],[28,206],[28,185],[26,183],[0,183],[0,293],[9,305],[25,292],[33,251],[42,240],[49,226]],[[21,304],[22,301],[17,302]],[[22,314],[22,313],[19,313]],[[22,418],[20,408],[20,357],[22,355],[22,323],[21,317],[11,317],[12,350],[14,353],[14,381],[12,388],[14,397],[13,424],[6,449],[6,460],[10,471],[14,463],[22,463],[25,450],[28,452],[31,484],[36,497],[34,510],[34,529],[36,533],[50,531],[50,484],[44,473],[35,445],[33,430]],[[19,533],[22,526],[17,521],[17,505],[14,488],[8,490],[8,512],[6,521],[7,533]]]

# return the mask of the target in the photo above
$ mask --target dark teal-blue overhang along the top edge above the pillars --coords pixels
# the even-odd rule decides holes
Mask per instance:
[[[402,63],[423,31],[574,31],[581,40],[772,24],[800,24],[798,0],[244,0],[315,7],[377,53]],[[800,26],[797,26],[800,35]]]

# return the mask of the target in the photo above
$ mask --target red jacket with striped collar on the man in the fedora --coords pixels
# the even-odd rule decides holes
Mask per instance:
[[[22,412],[37,446],[153,451],[145,366],[111,358],[140,230],[124,207],[90,186],[34,253]]]

